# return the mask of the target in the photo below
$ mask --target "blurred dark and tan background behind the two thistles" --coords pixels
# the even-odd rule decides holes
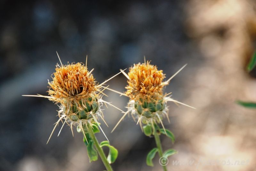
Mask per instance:
[[[163,148],[179,151],[169,158],[169,170],[254,170],[256,167],[256,110],[235,103],[256,101],[256,71],[245,66],[255,49],[254,0],[160,1],[0,1],[0,170],[104,170],[100,160],[89,163],[81,133],[72,137],[60,126],[49,144],[58,106],[47,99],[55,65],[84,62],[98,82],[143,62],[143,56],[171,77],[166,87],[176,100],[197,109],[170,103],[176,142],[161,136]],[[126,71],[127,72],[127,71]],[[126,78],[118,75],[110,88],[124,92]],[[122,110],[128,98],[107,91],[104,100]],[[104,107],[105,108],[105,107]],[[161,170],[146,165],[154,138],[145,136],[130,117],[110,131],[121,118],[115,108],[104,111],[102,124],[119,156],[114,170]],[[103,122],[102,122],[103,123]],[[105,140],[102,133],[97,138]],[[106,149],[107,150],[107,149]],[[107,152],[107,151],[106,151]],[[173,160],[248,161],[236,166],[185,164]]]

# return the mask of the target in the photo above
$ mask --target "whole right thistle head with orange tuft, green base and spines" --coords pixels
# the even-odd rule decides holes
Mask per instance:
[[[158,70],[156,66],[151,65],[150,62],[146,62],[146,60],[142,64],[134,64],[134,66],[129,69],[128,74],[121,71],[128,79],[128,85],[125,87],[127,91],[125,93],[117,93],[129,97],[130,100],[127,105],[128,110],[116,124],[115,128],[128,113],[131,113],[133,119],[137,120],[137,124],[140,123],[141,128],[142,123],[152,124],[152,126],[161,123],[164,128],[162,119],[167,117],[169,121],[167,102],[172,101],[182,105],[186,104],[172,99],[171,96],[168,96],[171,93],[164,94],[163,88],[168,85],[171,79],[185,66],[180,68],[179,71],[166,81],[163,81],[165,78],[163,71]],[[189,105],[186,106],[191,107]],[[112,131],[114,131],[114,129]]]

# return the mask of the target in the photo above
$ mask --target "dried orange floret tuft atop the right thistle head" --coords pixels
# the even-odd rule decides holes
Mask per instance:
[[[129,69],[128,86],[125,87],[127,91],[126,95],[130,99],[138,100],[142,97],[155,97],[163,95],[163,87],[166,84],[162,84],[165,74],[162,70],[157,70],[157,67],[151,65],[150,62],[142,64],[134,64]]]

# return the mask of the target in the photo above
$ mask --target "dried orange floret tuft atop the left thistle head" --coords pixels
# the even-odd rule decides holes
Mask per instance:
[[[74,97],[79,99],[88,97],[97,90],[93,75],[81,63],[57,65],[55,70],[52,82],[48,83],[51,86],[48,92],[56,99]]]

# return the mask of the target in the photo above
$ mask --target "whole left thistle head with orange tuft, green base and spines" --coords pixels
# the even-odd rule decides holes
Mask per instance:
[[[85,133],[87,131],[86,127],[88,127],[88,125],[96,125],[97,127],[100,127],[100,124],[98,122],[99,118],[104,121],[104,116],[101,109],[103,103],[117,108],[116,106],[102,99],[102,96],[105,95],[102,92],[104,91],[104,89],[102,89],[102,85],[108,82],[110,79],[114,78],[117,74],[109,78],[105,82],[97,84],[92,75],[93,69],[90,72],[87,69],[87,58],[86,65],[82,63],[68,63],[67,65],[63,66],[63,64],[61,63],[61,66],[58,64],[56,65],[55,70],[56,72],[53,73],[52,81],[49,82],[48,80],[50,89],[47,92],[50,96],[42,96],[39,94],[25,96],[44,97],[57,104],[60,104],[60,110],[58,111],[58,116],[60,118],[55,123],[52,133],[54,132],[59,122],[63,122],[64,120],[60,132],[64,124],[67,123],[68,126],[70,126],[71,128],[72,135],[74,125],[77,126],[77,131],[83,132],[84,137],[86,138]],[[102,129],[101,131],[104,134]],[[47,143],[49,142],[52,133]]]

